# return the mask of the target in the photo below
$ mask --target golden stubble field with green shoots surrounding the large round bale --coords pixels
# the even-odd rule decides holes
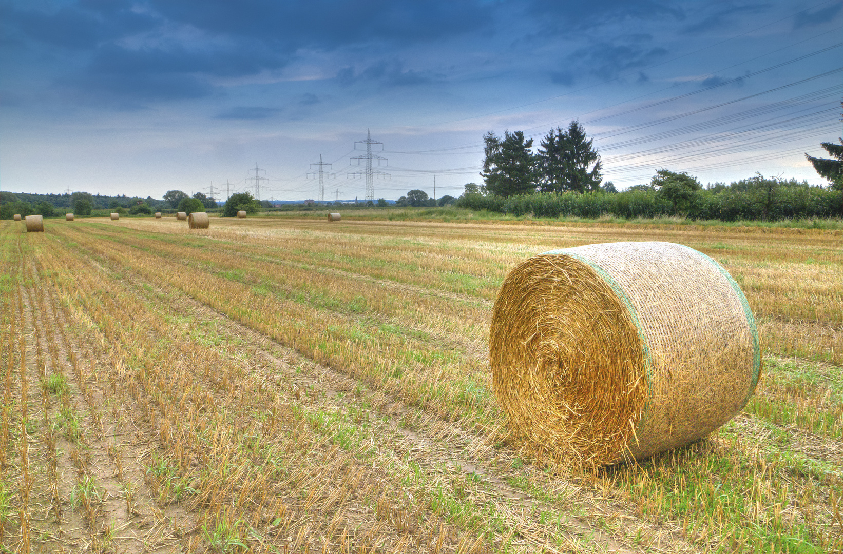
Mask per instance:
[[[530,255],[624,240],[733,274],[762,381],[708,439],[572,472],[507,430],[491,306]],[[0,546],[840,552],[841,275],[840,231],[3,221]]]

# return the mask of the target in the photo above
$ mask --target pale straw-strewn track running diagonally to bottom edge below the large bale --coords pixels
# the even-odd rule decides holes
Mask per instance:
[[[266,372],[266,380],[275,386],[293,389],[296,387],[313,388],[315,391],[322,392],[325,397],[337,405],[359,403],[360,400],[370,402],[373,405],[372,413],[389,418],[389,429],[403,437],[406,450],[424,453],[423,456],[417,458],[422,466],[444,462],[448,466],[461,471],[466,477],[477,476],[475,478],[481,479],[494,496],[516,503],[523,509],[535,513],[542,510],[556,513],[560,510],[560,506],[543,502],[529,493],[524,493],[518,488],[508,485],[505,477],[502,477],[500,473],[481,461],[484,457],[486,459],[502,459],[508,456],[514,459],[514,453],[497,451],[488,444],[487,439],[471,435],[463,429],[459,429],[454,423],[432,418],[429,414],[426,415],[423,409],[406,407],[395,400],[394,397],[384,394],[384,392],[372,390],[368,386],[366,392],[362,392],[359,397],[353,397],[348,393],[360,386],[361,381],[298,354],[294,349],[256,332],[254,329],[235,321],[223,312],[218,312],[211,306],[207,306],[171,285],[150,283],[144,280],[140,274],[134,271],[130,272],[125,266],[117,272],[111,269],[111,262],[102,258],[94,264],[109,274],[121,274],[122,279],[128,281],[139,295],[145,294],[145,286],[150,287],[155,294],[167,296],[171,305],[178,312],[191,314],[200,321],[217,322],[223,328],[224,333],[243,340],[251,348],[254,348],[255,354],[260,356],[267,365],[283,372],[283,379],[278,376],[271,376],[269,372]],[[253,369],[260,370],[259,367]],[[419,424],[416,425],[416,429],[410,429],[407,425],[408,421]],[[470,455],[456,455],[454,454],[455,451],[462,451]],[[541,473],[538,468],[532,469]],[[559,483],[563,485],[561,480]],[[590,517],[600,517],[610,521],[636,525],[637,517],[632,507],[624,507],[620,503],[609,503],[605,499],[591,496],[588,501],[588,508],[592,512],[589,514]],[[602,548],[606,551],[624,554],[646,551],[620,543],[608,532],[600,530],[595,525],[589,525],[588,518],[566,514],[564,522],[571,528],[572,535],[588,535],[593,541],[602,545]],[[640,527],[642,523],[645,522],[639,521],[637,526]],[[674,544],[680,543],[684,546],[682,550],[685,551],[697,550],[681,537],[680,526],[670,530],[664,529],[665,525],[656,525],[656,527],[662,528],[660,530],[666,535],[663,536],[665,541]]]

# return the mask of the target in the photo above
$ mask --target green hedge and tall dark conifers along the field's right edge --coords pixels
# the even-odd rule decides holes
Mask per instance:
[[[841,103],[843,104],[843,103]],[[685,215],[691,219],[773,221],[794,217],[843,216],[843,138],[822,142],[831,158],[806,154],[830,187],[807,181],[765,178],[760,173],[732,184],[710,184],[686,172],[659,169],[648,184],[618,192],[602,183],[599,152],[583,125],[556,128],[533,152],[523,131],[483,136],[484,184],[466,184],[457,205],[514,216],[624,218]],[[611,194],[609,194],[611,193]]]

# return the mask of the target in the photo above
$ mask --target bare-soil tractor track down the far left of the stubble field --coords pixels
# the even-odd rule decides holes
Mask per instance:
[[[71,326],[62,302],[55,290],[40,280],[35,262],[30,260],[27,269],[31,284],[23,287],[22,297],[29,330],[26,334],[30,338],[27,349],[32,354],[27,356],[28,366],[33,360],[43,360],[45,377],[61,376],[67,382],[67,400],[62,401],[62,409],[75,414],[80,430],[78,436],[71,436],[67,420],[62,423],[67,412],[62,413],[58,406],[58,395],[53,398],[44,386],[36,388],[37,381],[30,378],[30,402],[46,407],[36,412],[46,418],[44,421],[33,418],[33,423],[43,429],[37,440],[30,435],[30,463],[49,463],[54,457],[56,481],[51,483],[50,470],[46,474],[35,473],[39,482],[33,488],[45,492],[30,501],[33,507],[39,505],[44,514],[43,518],[30,519],[33,538],[44,545],[72,546],[78,551],[132,554],[178,549],[181,530],[173,524],[176,519],[187,524],[185,511],[158,505],[144,479],[142,459],[148,457],[156,439],[143,429],[130,427],[126,410],[132,408],[100,410],[107,398],[93,375],[95,366],[105,362],[90,355],[92,344],[68,347],[64,334]],[[36,296],[40,301],[35,301]],[[83,351],[85,347],[87,351]],[[70,361],[74,356],[76,360],[88,361],[74,366]],[[38,367],[29,369],[30,375],[38,375]],[[95,490],[99,492],[91,508],[83,511],[81,505],[74,505],[73,498],[78,495],[79,483],[88,478],[96,483]],[[56,498],[52,498],[54,494]]]

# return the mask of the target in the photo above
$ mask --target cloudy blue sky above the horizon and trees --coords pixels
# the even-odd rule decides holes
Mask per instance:
[[[619,188],[824,183],[843,135],[843,0],[0,0],[0,189],[160,198],[363,197],[354,142],[384,143],[375,197],[481,182],[486,131],[580,120]],[[219,194],[217,193],[217,196]],[[224,194],[223,194],[224,197]]]

